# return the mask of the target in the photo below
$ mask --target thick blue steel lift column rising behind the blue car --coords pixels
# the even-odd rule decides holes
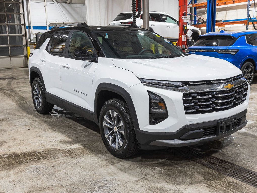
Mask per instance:
[[[206,33],[215,32],[216,0],[207,0]]]

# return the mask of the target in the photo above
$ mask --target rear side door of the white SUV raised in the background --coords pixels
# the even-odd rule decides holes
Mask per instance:
[[[167,27],[166,24],[162,22],[160,14],[150,13],[150,18],[152,21],[149,21],[149,25],[153,31],[160,34],[162,37],[167,38]]]

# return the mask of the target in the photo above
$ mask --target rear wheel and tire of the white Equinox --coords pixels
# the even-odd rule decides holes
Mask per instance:
[[[53,110],[53,104],[47,102],[45,91],[40,78],[35,78],[31,86],[34,107],[40,114],[47,114]]]

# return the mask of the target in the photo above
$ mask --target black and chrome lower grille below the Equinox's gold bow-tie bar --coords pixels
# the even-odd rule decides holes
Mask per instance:
[[[244,83],[229,90],[183,93],[186,114],[211,113],[240,105],[246,99],[248,85]]]

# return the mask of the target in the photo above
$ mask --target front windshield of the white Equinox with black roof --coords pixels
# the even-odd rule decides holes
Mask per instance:
[[[168,58],[185,56],[180,49],[161,36],[148,31],[95,32],[108,58]]]

